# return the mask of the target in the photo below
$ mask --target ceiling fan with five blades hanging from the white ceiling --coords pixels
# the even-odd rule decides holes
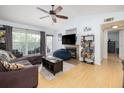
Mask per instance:
[[[51,5],[51,6],[52,6],[52,10],[50,10],[50,11],[46,11],[46,10],[40,8],[40,7],[37,7],[38,10],[40,10],[40,11],[45,12],[45,13],[48,14],[46,16],[40,17],[40,19],[47,18],[47,17],[51,16],[51,18],[52,18],[52,20],[53,20],[54,23],[57,22],[56,17],[57,18],[61,18],[61,19],[68,19],[67,16],[58,15],[58,13],[63,9],[61,6],[58,6],[56,9],[54,9],[54,6],[55,5]]]

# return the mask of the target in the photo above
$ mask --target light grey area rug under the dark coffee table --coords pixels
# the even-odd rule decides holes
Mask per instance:
[[[44,76],[45,79],[53,80],[57,78],[57,76],[62,75],[63,73],[71,70],[73,67],[75,67],[75,65],[67,63],[67,62],[63,62],[63,71],[56,73],[55,76],[42,66],[40,66],[39,71]]]

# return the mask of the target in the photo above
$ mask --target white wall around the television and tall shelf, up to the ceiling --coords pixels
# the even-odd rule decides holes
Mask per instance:
[[[65,30],[71,28],[77,28],[77,36],[78,38],[81,35],[87,34],[94,34],[95,35],[95,64],[101,64],[101,60],[104,58],[105,53],[103,53],[103,32],[101,30],[101,24],[104,23],[104,19],[108,17],[114,17],[114,21],[124,19],[124,12],[117,12],[117,13],[107,13],[101,15],[90,15],[90,16],[81,16],[70,20],[65,25],[63,25],[59,30],[58,33],[65,33]],[[88,26],[92,28],[92,31],[83,32],[83,29]],[[57,46],[55,49],[63,48],[64,46],[61,44],[61,41],[56,39]],[[80,45],[80,42],[78,42]]]

